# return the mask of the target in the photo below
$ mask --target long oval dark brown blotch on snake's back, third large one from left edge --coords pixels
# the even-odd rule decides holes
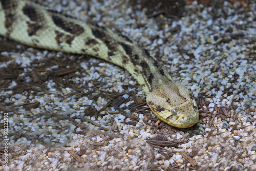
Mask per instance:
[[[73,34],[75,36],[82,34],[84,31],[84,29],[81,26],[79,26],[78,24],[75,24],[73,22],[68,22],[67,20],[62,19],[59,16],[53,15],[52,20],[53,20],[53,23],[57,27],[65,30],[66,32],[69,32],[70,34]]]

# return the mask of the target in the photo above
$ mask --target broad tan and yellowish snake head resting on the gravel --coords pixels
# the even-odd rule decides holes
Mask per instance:
[[[196,101],[180,83],[157,86],[147,94],[146,101],[155,115],[169,125],[185,128],[198,122]]]

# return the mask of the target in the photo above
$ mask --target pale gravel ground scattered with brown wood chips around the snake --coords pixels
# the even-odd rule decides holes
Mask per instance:
[[[193,92],[200,118],[169,126],[112,63],[0,38],[0,170],[256,170],[255,1],[38,2],[141,42]]]

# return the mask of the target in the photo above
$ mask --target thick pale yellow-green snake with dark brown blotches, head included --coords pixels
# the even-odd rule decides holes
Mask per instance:
[[[86,54],[127,70],[146,95],[151,111],[180,128],[199,120],[193,95],[174,81],[156,57],[135,40],[110,28],[28,0],[0,0],[0,35],[30,47]]]

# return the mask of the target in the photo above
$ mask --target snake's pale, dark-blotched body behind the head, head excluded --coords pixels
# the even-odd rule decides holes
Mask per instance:
[[[152,85],[173,81],[147,50],[108,28],[30,1],[0,1],[0,15],[0,35],[36,48],[87,54],[114,63],[130,72],[145,94],[153,91]]]

